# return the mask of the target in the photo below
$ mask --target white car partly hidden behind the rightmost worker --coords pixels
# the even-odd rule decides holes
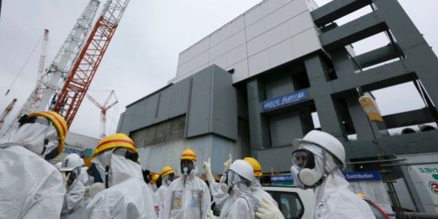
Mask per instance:
[[[302,190],[296,187],[263,187],[282,211],[284,218],[310,218],[314,211],[314,191]]]

